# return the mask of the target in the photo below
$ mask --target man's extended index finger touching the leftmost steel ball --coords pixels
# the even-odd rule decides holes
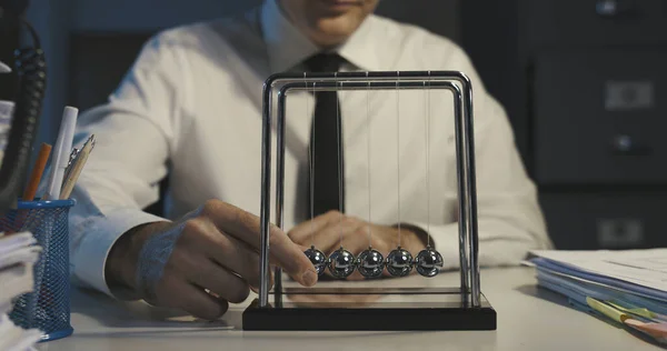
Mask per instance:
[[[258,217],[221,201],[209,201],[202,214],[221,231],[260,250],[260,220]],[[269,247],[276,263],[306,287],[317,283],[315,267],[287,234],[276,225],[269,229]]]

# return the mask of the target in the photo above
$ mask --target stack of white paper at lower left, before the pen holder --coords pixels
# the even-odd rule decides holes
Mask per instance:
[[[33,350],[41,331],[23,330],[7,315],[12,300],[34,288],[32,267],[41,249],[31,233],[0,234],[0,350]]]

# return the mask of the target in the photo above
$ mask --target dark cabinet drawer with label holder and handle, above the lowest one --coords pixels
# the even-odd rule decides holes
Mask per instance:
[[[545,54],[534,83],[541,184],[667,183],[667,52]]]

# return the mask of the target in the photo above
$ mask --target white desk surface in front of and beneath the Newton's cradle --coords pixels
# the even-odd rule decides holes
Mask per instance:
[[[536,287],[530,268],[481,271],[481,288],[498,312],[497,331],[446,332],[247,332],[245,305],[232,305],[215,323],[178,317],[139,302],[118,302],[74,291],[74,334],[39,344],[39,350],[659,350],[629,332],[566,305]],[[422,279],[414,277],[408,279]],[[458,273],[429,284],[456,287]],[[387,280],[374,284],[396,284]],[[168,319],[166,319],[168,318]]]

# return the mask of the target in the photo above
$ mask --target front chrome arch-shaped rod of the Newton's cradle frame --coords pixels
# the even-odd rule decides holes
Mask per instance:
[[[400,81],[398,79],[400,78]],[[461,242],[468,242],[469,244],[469,262],[470,265],[466,267],[466,264],[461,264],[461,274],[464,277],[470,278],[471,285],[471,298],[472,298],[472,307],[480,307],[480,289],[479,289],[479,264],[478,264],[478,232],[477,232],[477,199],[476,199],[476,178],[475,178],[475,144],[472,138],[472,88],[469,78],[459,71],[406,71],[406,72],[397,72],[397,71],[380,71],[380,72],[338,72],[338,73],[312,73],[306,77],[305,74],[299,73],[279,73],[273,74],[265,82],[263,87],[263,128],[262,132],[262,192],[261,192],[261,264],[260,264],[260,307],[266,307],[268,303],[268,293],[269,293],[269,218],[270,218],[270,203],[268,203],[268,199],[270,198],[270,133],[271,133],[271,98],[272,98],[272,89],[278,83],[283,83],[285,86],[281,88],[281,92],[279,97],[286,99],[286,92],[289,89],[295,90],[303,90],[306,88],[303,83],[313,83],[313,87],[308,89],[321,89],[321,90],[358,90],[359,88],[371,89],[371,90],[381,90],[381,89],[396,89],[397,83],[399,89],[424,89],[424,80],[419,79],[428,79],[431,83],[431,87],[436,88],[446,88],[439,87],[440,83],[446,83],[448,81],[455,80],[459,82],[462,87],[462,99],[456,99],[459,102],[462,100],[464,102],[464,113],[458,113],[457,119],[459,121],[459,126],[462,128],[456,129],[457,134],[457,157],[460,157],[462,160],[457,161],[457,167],[461,167],[461,174],[459,174],[459,191],[460,198],[464,198],[464,201],[460,201],[459,204],[462,203],[462,208],[460,209],[459,217],[459,225],[462,225],[459,230],[459,255],[461,252],[465,254],[465,250],[460,250]],[[380,80],[380,81],[378,81]],[[346,81],[345,87],[340,87],[337,82]],[[327,84],[328,82],[335,82],[334,84]],[[289,83],[298,83],[298,86],[293,86],[289,89],[285,89]],[[332,89],[335,88],[335,89]],[[458,88],[458,87],[457,87]],[[446,88],[448,89],[448,88]],[[455,89],[450,89],[455,91]],[[461,92],[459,90],[459,93]],[[456,92],[455,92],[456,96]],[[285,101],[282,102],[285,103]],[[279,102],[280,106],[280,102]],[[282,104],[285,108],[285,106]],[[455,104],[456,107],[456,104]],[[460,112],[460,111],[459,111]],[[282,116],[282,119],[285,116]],[[279,122],[280,124],[280,122]],[[282,130],[283,132],[283,130]],[[280,139],[280,143],[282,146],[278,146],[278,150],[285,150],[285,141]],[[283,169],[282,169],[283,172]],[[283,176],[281,176],[281,179]],[[461,178],[464,181],[461,181]],[[462,184],[461,184],[462,183]],[[277,199],[278,200],[278,199]],[[282,202],[282,201],[279,201]],[[282,203],[279,204],[280,209],[282,208]],[[278,207],[277,207],[278,208]],[[281,211],[281,210],[280,210]],[[464,235],[465,234],[465,235]],[[461,237],[465,238],[461,238]],[[461,257],[461,260],[466,260],[466,257]],[[466,272],[467,271],[467,272]],[[465,284],[465,279],[461,279],[461,284]],[[466,292],[466,287],[461,287],[461,291]]]

